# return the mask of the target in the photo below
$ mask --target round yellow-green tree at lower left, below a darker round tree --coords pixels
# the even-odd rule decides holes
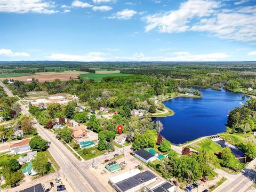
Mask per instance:
[[[45,175],[50,171],[51,164],[48,162],[48,158],[43,152],[37,153],[32,163],[33,169],[40,175]]]

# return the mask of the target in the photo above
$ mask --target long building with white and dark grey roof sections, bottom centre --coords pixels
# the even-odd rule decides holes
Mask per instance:
[[[134,171],[119,174],[109,179],[109,184],[118,192],[141,191],[142,188],[157,181],[157,176],[150,171]]]

